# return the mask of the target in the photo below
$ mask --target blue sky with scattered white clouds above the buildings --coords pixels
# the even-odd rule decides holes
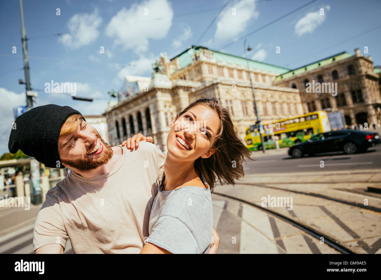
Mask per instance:
[[[226,0],[24,0],[31,85],[42,90],[34,106],[54,103],[84,115],[101,114],[107,107],[107,91],[119,90],[124,75],[150,76],[151,63],[160,53],[171,59],[199,40],[197,45],[243,56],[239,38],[308,2],[231,0],[199,40]],[[380,65],[381,28],[367,32],[380,25],[380,11],[378,0],[317,0],[247,36],[253,48],[249,58],[294,69],[341,51],[354,53],[359,48],[363,53],[367,46],[365,55]],[[23,67],[18,1],[0,2],[0,24],[2,154],[8,152],[12,108],[25,104],[25,86],[18,84],[24,79],[18,70]],[[57,33],[64,35],[50,36]],[[275,53],[277,46],[280,53]],[[45,83],[51,80],[75,82],[77,96],[98,99],[74,101],[69,95],[45,93]]]

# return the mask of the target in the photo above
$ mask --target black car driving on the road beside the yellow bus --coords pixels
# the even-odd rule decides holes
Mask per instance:
[[[381,144],[377,132],[364,130],[337,130],[316,134],[306,142],[295,144],[290,147],[288,154],[298,158],[303,155],[318,153],[339,152],[354,154],[365,152],[369,147]]]

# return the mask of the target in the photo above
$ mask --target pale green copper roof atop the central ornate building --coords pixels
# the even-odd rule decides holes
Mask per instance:
[[[178,56],[175,56],[174,58],[176,58],[176,57],[179,58],[180,69],[191,64],[191,62],[192,62],[191,56],[195,52],[198,53],[200,51],[200,49],[210,50],[210,49],[205,48],[203,46],[192,46],[192,53],[188,53],[188,50],[185,50],[182,53],[180,53]],[[215,51],[215,50],[210,50],[210,51],[214,54],[214,57],[217,61],[227,62],[227,63],[236,64],[236,65],[240,65],[240,66],[247,66],[247,61],[245,58],[242,58],[240,56],[235,56],[232,54],[221,53],[221,52]],[[174,58],[172,58],[171,60],[173,60]],[[266,71],[275,72],[275,73],[279,73],[279,74],[287,73],[290,71],[290,69],[288,69],[288,68],[279,67],[279,66],[275,66],[275,65],[255,61],[255,60],[251,60],[251,59],[249,59],[249,66],[253,69],[266,70]]]

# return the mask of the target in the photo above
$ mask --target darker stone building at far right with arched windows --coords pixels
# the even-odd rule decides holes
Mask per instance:
[[[381,96],[377,73],[379,69],[373,68],[371,57],[355,49],[354,55],[335,54],[279,75],[274,85],[300,90],[304,112],[343,109],[347,125],[379,126]],[[320,92],[311,92],[308,83],[322,85]]]

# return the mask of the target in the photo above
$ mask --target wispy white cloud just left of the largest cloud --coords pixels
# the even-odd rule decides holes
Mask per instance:
[[[70,48],[79,48],[88,45],[99,36],[98,28],[102,23],[97,8],[92,14],[80,13],[74,14],[67,23],[69,34],[64,34],[58,38],[58,42]]]

